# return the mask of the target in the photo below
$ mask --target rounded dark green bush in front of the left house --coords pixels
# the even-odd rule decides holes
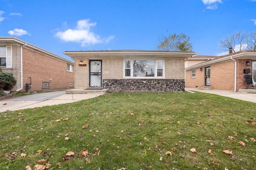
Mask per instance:
[[[12,90],[16,84],[16,80],[12,73],[0,72],[0,89],[2,90]]]

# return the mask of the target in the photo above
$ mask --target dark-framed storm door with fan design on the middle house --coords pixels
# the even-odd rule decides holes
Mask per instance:
[[[90,60],[89,86],[102,87],[102,60]]]

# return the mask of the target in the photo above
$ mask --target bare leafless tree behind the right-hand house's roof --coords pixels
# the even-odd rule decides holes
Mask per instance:
[[[233,52],[244,49],[256,50],[256,32],[247,33],[244,30],[235,31],[220,39],[219,49],[222,51],[232,49]]]

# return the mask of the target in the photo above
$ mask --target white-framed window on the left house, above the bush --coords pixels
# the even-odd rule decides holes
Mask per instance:
[[[0,47],[0,67],[12,68],[12,46]]]

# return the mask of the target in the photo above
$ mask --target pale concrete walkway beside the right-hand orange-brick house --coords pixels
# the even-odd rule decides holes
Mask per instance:
[[[185,88],[185,90],[217,94],[220,96],[225,96],[225,97],[229,97],[229,98],[234,98],[234,99],[239,99],[239,100],[256,103],[256,94],[255,93],[233,92],[233,91],[226,91],[226,90],[199,89],[199,88]]]

